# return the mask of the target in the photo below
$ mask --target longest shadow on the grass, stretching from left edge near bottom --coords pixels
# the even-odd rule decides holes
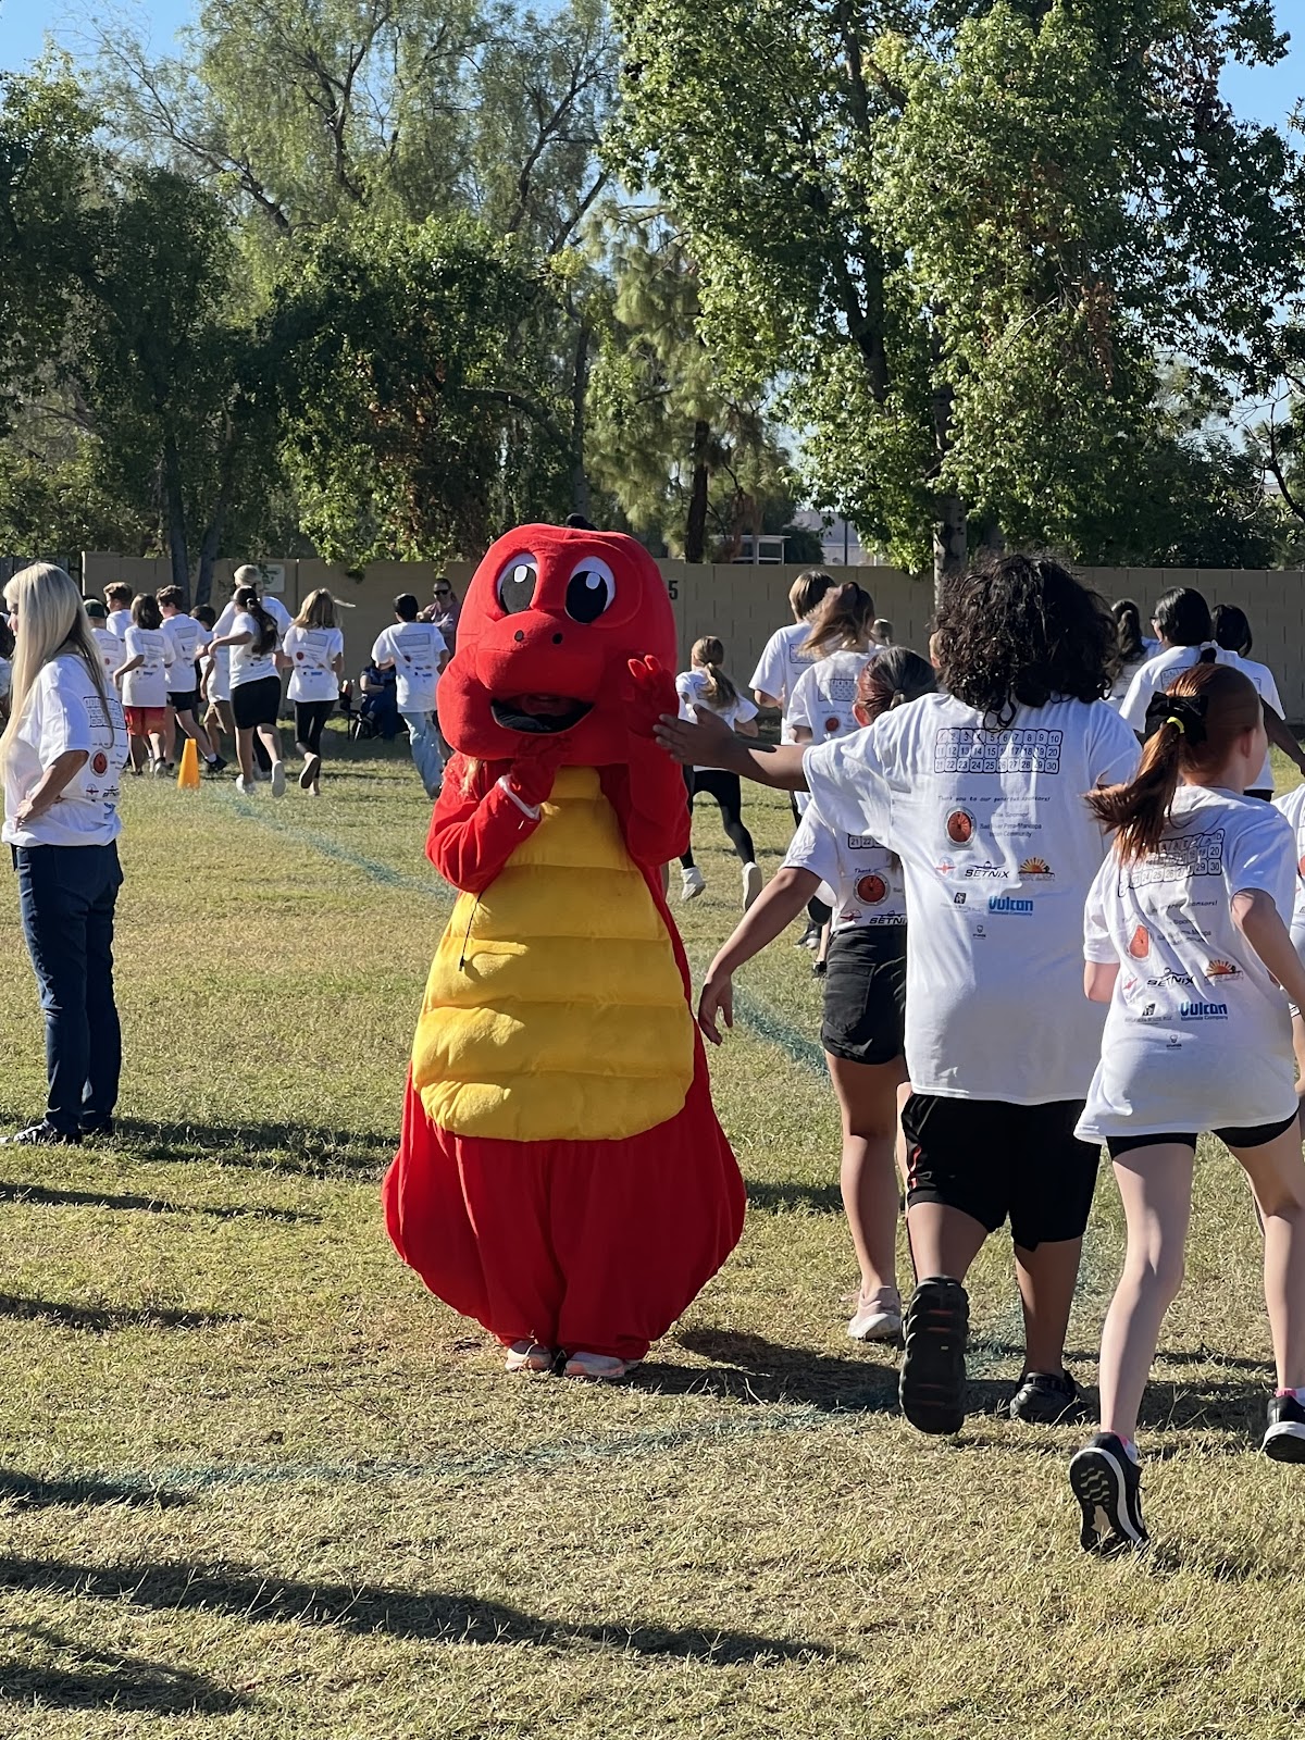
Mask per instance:
[[[760,1637],[715,1625],[604,1625],[546,1620],[475,1596],[423,1594],[345,1583],[291,1583],[244,1566],[66,1564],[59,1559],[0,1557],[0,1589],[40,1590],[137,1608],[226,1613],[249,1623],[338,1625],[358,1636],[418,1637],[459,1644],[541,1644],[572,1650],[677,1656],[708,1665],[804,1662],[830,1656],[825,1644]]]

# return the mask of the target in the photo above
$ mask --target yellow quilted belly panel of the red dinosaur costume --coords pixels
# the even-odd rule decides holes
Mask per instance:
[[[590,767],[440,940],[412,1047],[426,1115],[459,1136],[611,1141],[673,1117],[693,1016],[670,936]]]

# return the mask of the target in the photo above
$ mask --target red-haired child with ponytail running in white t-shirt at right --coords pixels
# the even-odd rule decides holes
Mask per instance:
[[[1246,1169],[1263,1220],[1277,1364],[1263,1449],[1305,1462],[1305,1164],[1288,1016],[1288,997],[1305,1002],[1288,933],[1295,840],[1281,814],[1242,795],[1268,741],[1248,677],[1197,665],[1154,696],[1147,724],[1136,778],[1088,799],[1114,851],[1088,896],[1084,988],[1110,1013],[1077,1134],[1107,1143],[1128,1223],[1101,1331],[1101,1430],[1070,1462],[1093,1552],[1147,1540],[1138,1408],[1181,1284],[1192,1162],[1208,1131]]]

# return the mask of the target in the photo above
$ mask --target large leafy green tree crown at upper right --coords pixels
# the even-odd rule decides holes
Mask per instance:
[[[974,522],[1082,546],[1155,357],[1244,376],[1298,289],[1298,164],[1218,96],[1281,54],[1268,3],[616,10],[614,157],[684,224],[722,372],[792,381],[816,498],[912,566]]]

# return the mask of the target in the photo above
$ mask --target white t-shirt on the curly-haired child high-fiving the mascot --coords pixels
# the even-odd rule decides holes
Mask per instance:
[[[1020,706],[990,731],[950,694],[804,753],[826,823],[901,858],[917,1093],[1013,1105],[1088,1093],[1103,1011],[1082,995],[1082,905],[1105,839],[1082,793],[1131,780],[1138,760],[1100,701]]]

